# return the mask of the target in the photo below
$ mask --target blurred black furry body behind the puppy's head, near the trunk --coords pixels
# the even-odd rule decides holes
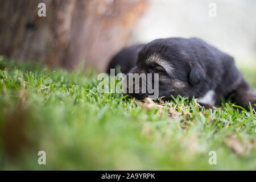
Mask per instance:
[[[138,44],[135,46],[123,48],[120,52],[117,53],[117,55],[112,58],[107,68],[107,72],[110,73],[110,69],[115,69],[115,75],[118,73],[118,71],[127,74],[136,64],[138,52],[142,49],[143,46],[144,44]]]

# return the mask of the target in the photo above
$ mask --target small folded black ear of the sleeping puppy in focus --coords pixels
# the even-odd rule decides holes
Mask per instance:
[[[201,80],[204,80],[206,73],[204,69],[197,63],[190,63],[190,74],[189,81],[193,86],[200,83]]]

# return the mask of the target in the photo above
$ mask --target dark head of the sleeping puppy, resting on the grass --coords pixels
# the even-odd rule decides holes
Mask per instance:
[[[189,50],[170,40],[158,39],[148,43],[139,52],[136,66],[127,75],[127,80],[136,75],[128,81],[127,93],[143,100],[152,95],[151,87],[158,92],[156,97],[164,100],[171,100],[171,95],[176,97],[178,94],[191,97],[193,88],[206,76],[201,65],[191,59]],[[131,86],[133,89],[128,90]]]

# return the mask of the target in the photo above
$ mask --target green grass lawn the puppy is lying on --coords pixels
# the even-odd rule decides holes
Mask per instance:
[[[0,69],[0,169],[256,169],[253,110],[200,111],[180,97],[146,109],[123,94],[99,94],[94,72],[4,57]],[[243,69],[254,88],[255,71]],[[45,166],[38,151],[46,151]]]

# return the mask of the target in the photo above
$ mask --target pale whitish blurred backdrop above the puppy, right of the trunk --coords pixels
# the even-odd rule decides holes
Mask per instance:
[[[158,38],[198,37],[235,57],[256,64],[255,0],[149,0],[129,44]],[[215,3],[217,16],[209,16]]]

